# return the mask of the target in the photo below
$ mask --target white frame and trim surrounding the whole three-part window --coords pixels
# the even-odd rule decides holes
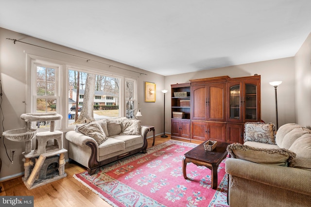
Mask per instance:
[[[55,99],[56,99],[56,112],[63,116],[62,120],[56,121],[55,129],[57,130],[69,130],[75,126],[68,125],[68,114],[69,114],[69,74],[70,70],[78,70],[86,73],[93,73],[97,75],[103,75],[108,77],[115,77],[120,79],[120,95],[119,95],[119,116],[126,115],[126,103],[125,103],[125,81],[134,82],[135,94],[135,106],[138,108],[137,101],[137,78],[130,76],[124,76],[124,74],[111,74],[111,71],[103,71],[100,68],[87,67],[85,65],[77,65],[68,63],[61,60],[50,59],[42,56],[37,56],[33,54],[26,53],[26,112],[33,113],[36,112],[36,67],[35,64],[43,64],[45,66],[57,67],[57,72],[55,71]],[[51,98],[51,96],[48,96]],[[54,98],[54,96],[53,96]],[[116,98],[116,97],[114,97]],[[33,123],[34,127],[36,123]],[[50,128],[38,128],[39,131],[50,130]]]

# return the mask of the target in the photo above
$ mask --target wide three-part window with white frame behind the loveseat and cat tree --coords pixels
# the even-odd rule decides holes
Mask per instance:
[[[27,93],[26,111],[56,112],[63,116],[56,121],[56,129],[71,128],[75,123],[75,115],[81,114],[86,104],[93,104],[95,120],[104,117],[126,116],[125,82],[131,85],[131,94],[136,88],[136,80],[127,80],[125,77],[110,74],[103,70],[91,67],[73,67],[61,61],[27,54]],[[88,75],[94,75],[94,96],[86,100],[86,82]],[[77,90],[79,89],[79,90]],[[131,106],[134,107],[135,96],[128,96]],[[87,103],[88,102],[88,103]],[[90,103],[91,102],[91,103]],[[77,114],[73,106],[78,105]],[[80,107],[81,106],[81,107]],[[72,109],[71,109],[72,108]],[[70,110],[71,109],[71,110]],[[80,111],[79,111],[80,109]],[[33,123],[39,130],[48,130],[49,122]],[[46,129],[44,129],[46,128]]]

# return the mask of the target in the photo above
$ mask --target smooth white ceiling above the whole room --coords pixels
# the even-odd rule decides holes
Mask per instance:
[[[0,27],[167,76],[294,56],[311,0],[0,0]]]

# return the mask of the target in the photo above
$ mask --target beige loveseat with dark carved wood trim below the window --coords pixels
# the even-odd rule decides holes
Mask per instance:
[[[140,126],[140,121],[125,117],[77,125],[65,135],[69,159],[85,166],[92,175],[104,164],[138,152],[146,153],[148,131],[149,127]]]

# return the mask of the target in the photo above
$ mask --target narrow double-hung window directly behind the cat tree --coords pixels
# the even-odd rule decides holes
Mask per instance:
[[[48,113],[58,112],[59,95],[58,95],[58,68],[48,64],[34,63],[33,76],[35,76],[35,83],[33,83],[33,112]],[[48,121],[38,121],[36,123],[38,128],[50,127]]]

